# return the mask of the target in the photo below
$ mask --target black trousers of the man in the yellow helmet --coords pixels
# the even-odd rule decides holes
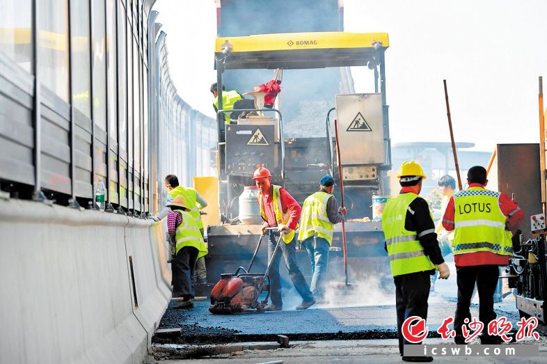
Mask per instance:
[[[427,299],[429,298],[429,285],[431,285],[429,276],[429,271],[418,271],[393,277],[395,307],[397,308],[397,335],[401,355],[404,355],[403,345],[411,345],[411,342],[404,340],[401,331],[404,320],[411,316],[427,319]]]

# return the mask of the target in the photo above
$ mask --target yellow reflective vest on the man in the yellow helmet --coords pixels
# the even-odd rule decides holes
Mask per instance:
[[[416,232],[404,228],[406,211],[416,198],[418,195],[415,193],[401,193],[390,198],[382,212],[382,230],[394,277],[435,269],[435,265],[425,255]]]

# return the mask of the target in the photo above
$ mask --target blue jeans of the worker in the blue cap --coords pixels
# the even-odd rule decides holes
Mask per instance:
[[[313,296],[316,299],[321,299],[325,292],[325,278],[328,271],[328,248],[330,245],[326,239],[322,237],[308,237],[302,242],[310,262],[312,263],[312,284],[310,286]]]

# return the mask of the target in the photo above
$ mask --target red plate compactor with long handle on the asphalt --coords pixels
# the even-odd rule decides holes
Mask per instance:
[[[277,230],[277,228],[267,228],[267,230]],[[255,262],[263,237],[264,235],[261,234],[255,253],[247,269],[239,267],[235,271],[235,274],[221,274],[221,280],[219,280],[219,283],[216,283],[211,291],[209,312],[221,315],[264,312],[264,306],[268,303],[270,295],[270,278],[268,274],[273,259],[268,262],[265,273],[249,273],[251,267],[253,267],[253,262]],[[283,232],[279,235],[279,239],[276,242],[272,258],[277,253],[282,237]],[[262,292],[268,292],[266,298],[263,301],[258,301],[258,296]]]

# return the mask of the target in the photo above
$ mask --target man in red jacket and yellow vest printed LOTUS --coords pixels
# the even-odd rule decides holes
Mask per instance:
[[[443,216],[445,229],[454,230],[452,248],[458,283],[454,342],[460,345],[466,343],[462,326],[466,318],[471,319],[469,306],[475,283],[480,321],[487,326],[496,319],[493,295],[498,285],[499,266],[509,264],[512,237],[524,219],[524,212],[509,196],[484,188],[488,183],[484,167],[471,167],[467,183],[468,189],[450,198]],[[500,343],[498,336],[482,335],[480,340],[483,345]]]

